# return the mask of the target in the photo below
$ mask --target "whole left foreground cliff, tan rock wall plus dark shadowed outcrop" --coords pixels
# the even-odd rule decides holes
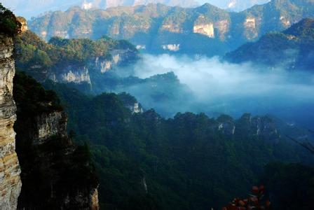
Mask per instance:
[[[13,37],[25,27],[1,3],[0,29],[0,209],[99,209],[88,147],[68,137],[60,100],[15,74]]]

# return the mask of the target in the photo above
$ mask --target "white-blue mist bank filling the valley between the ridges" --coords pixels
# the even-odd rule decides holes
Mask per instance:
[[[151,90],[142,86],[128,87],[127,91],[145,108],[152,107],[161,113],[171,109],[172,115],[192,111],[210,116],[226,113],[238,118],[243,113],[252,113],[306,125],[313,121],[314,76],[310,73],[228,64],[217,57],[143,55],[130,74],[149,78],[168,72],[175,73],[179,82],[191,90],[179,93],[182,95],[177,102],[151,102]],[[178,94],[177,90],[174,94]]]

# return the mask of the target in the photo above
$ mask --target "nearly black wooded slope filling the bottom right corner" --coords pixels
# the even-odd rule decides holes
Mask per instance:
[[[314,208],[314,168],[273,162],[265,168],[265,183],[274,209]]]

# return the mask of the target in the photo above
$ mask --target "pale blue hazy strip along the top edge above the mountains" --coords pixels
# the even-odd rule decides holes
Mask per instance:
[[[220,8],[231,10],[244,10],[254,4],[266,3],[269,0],[2,0],[1,3],[13,10],[16,15],[27,19],[41,13],[54,10],[67,10],[71,6],[85,6],[106,8],[107,6],[130,6],[142,3],[165,3],[170,6],[198,6],[211,3]]]

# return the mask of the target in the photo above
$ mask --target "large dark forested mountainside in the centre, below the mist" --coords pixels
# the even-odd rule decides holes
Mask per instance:
[[[45,86],[60,95],[76,139],[92,144],[104,209],[217,209],[259,184],[268,162],[313,161],[285,138],[292,127],[279,130],[270,117],[165,119],[153,110],[132,113],[128,94],[86,97],[64,84]]]

